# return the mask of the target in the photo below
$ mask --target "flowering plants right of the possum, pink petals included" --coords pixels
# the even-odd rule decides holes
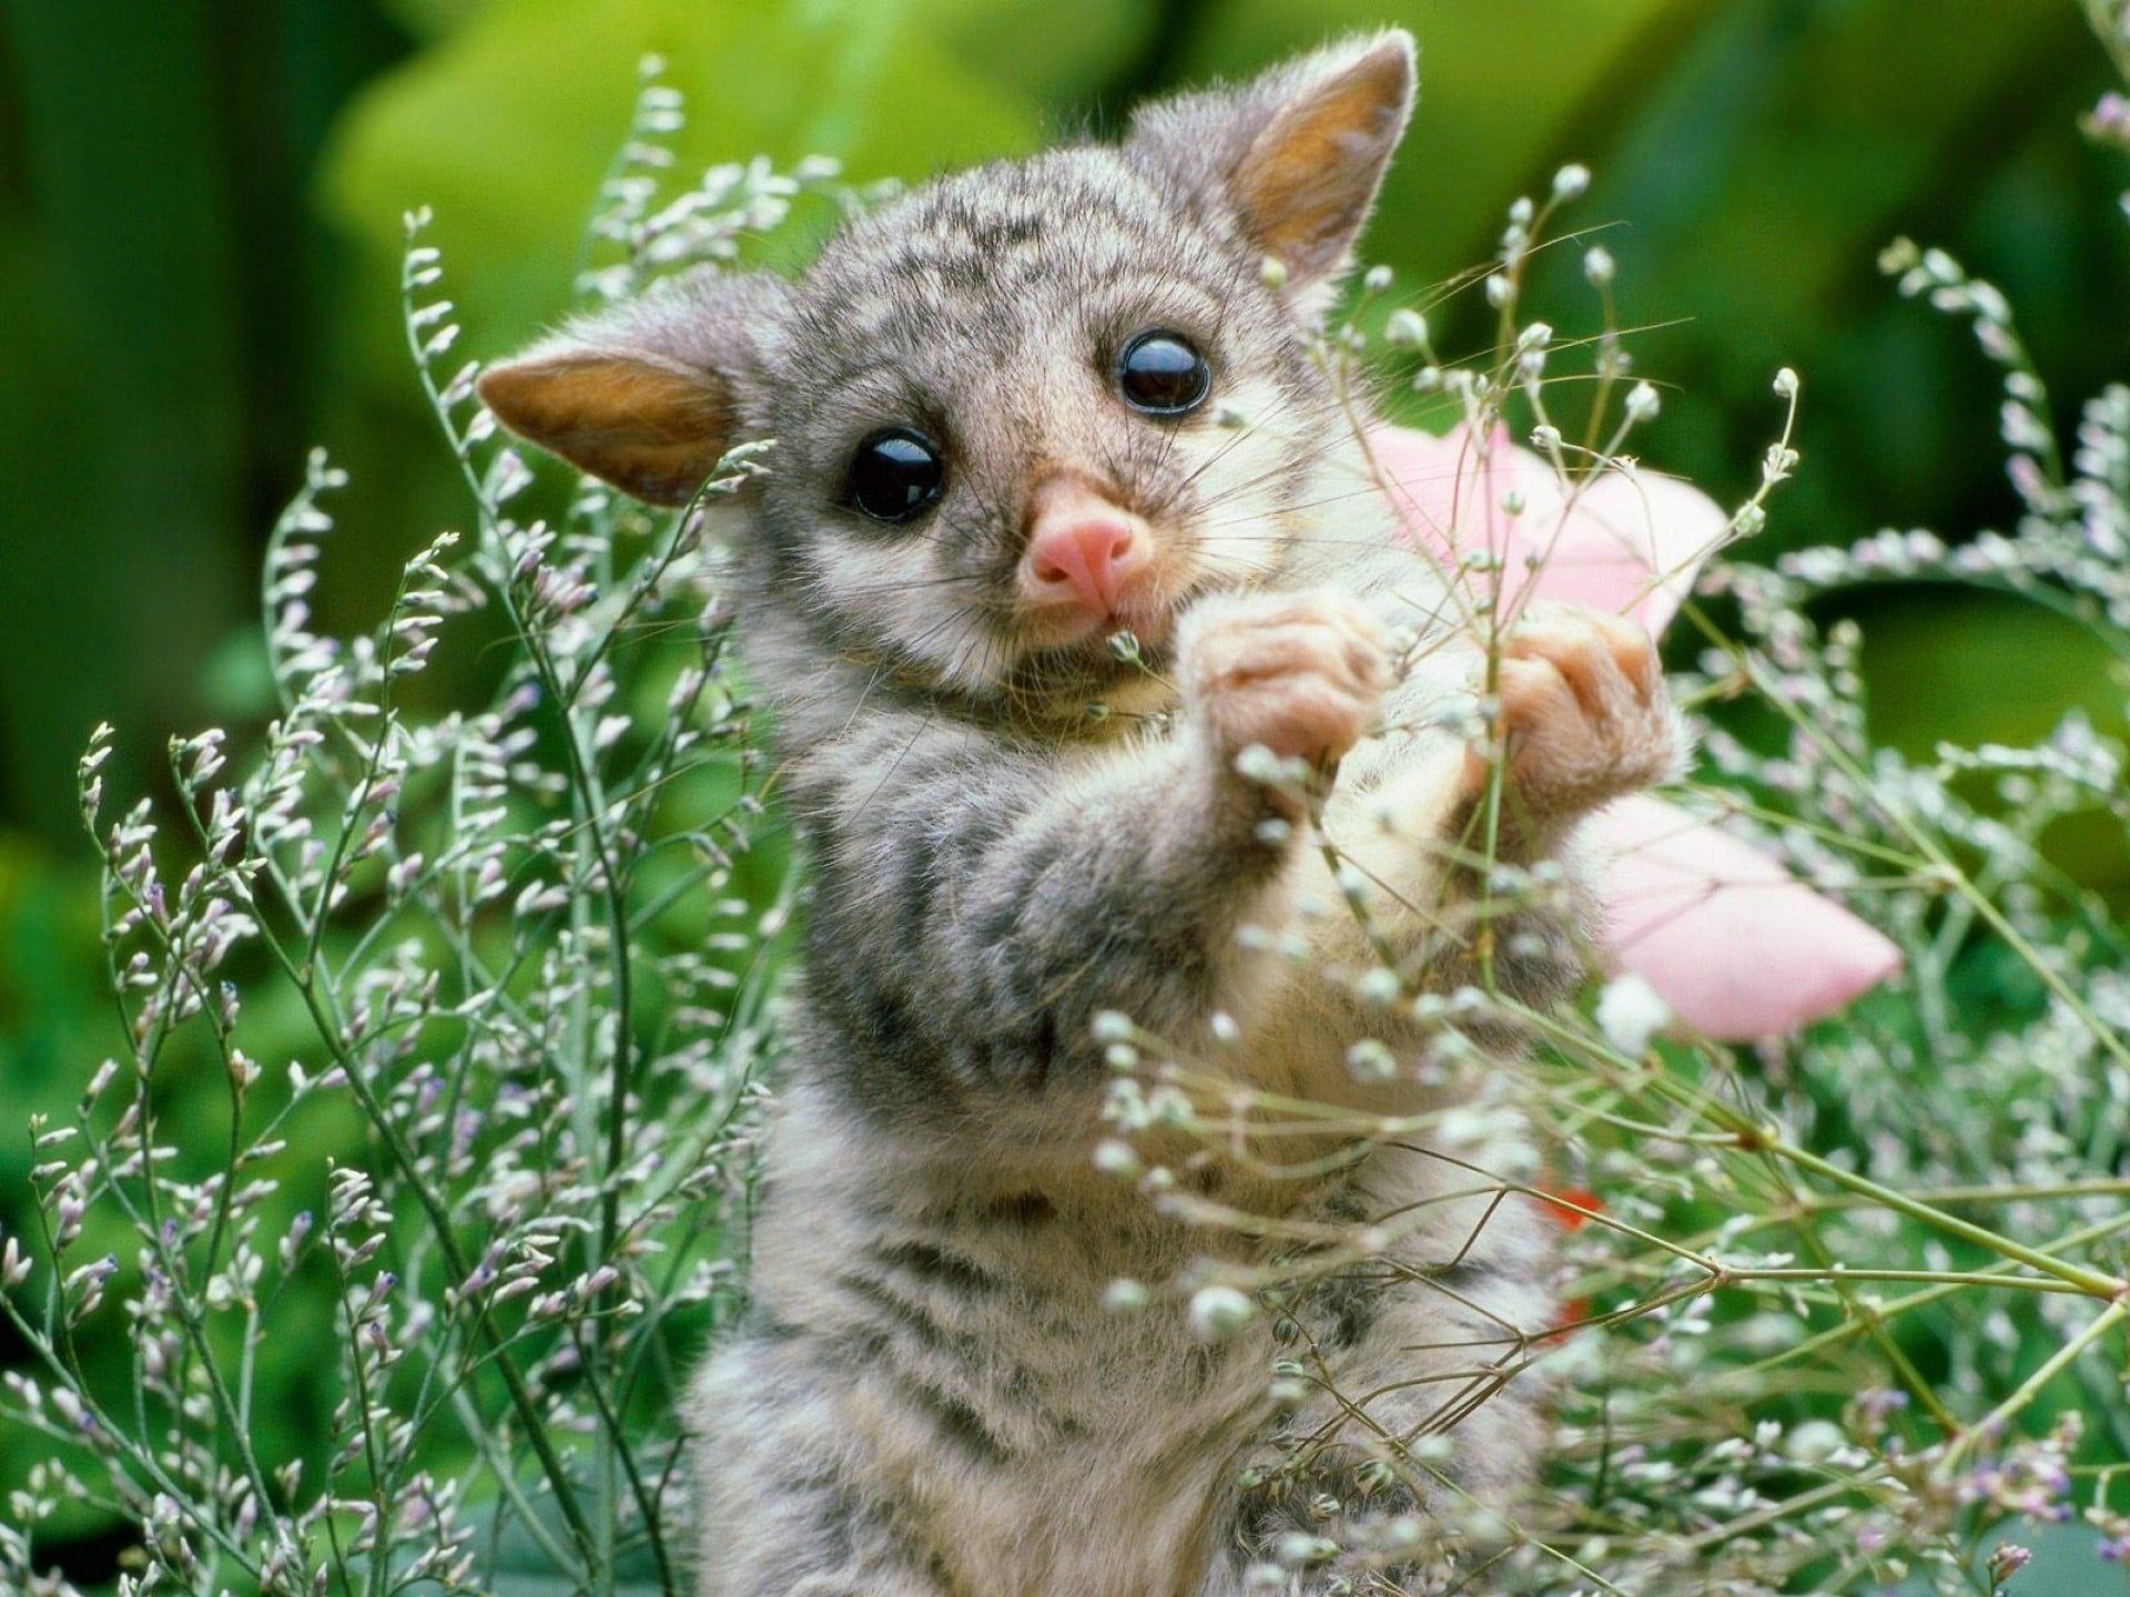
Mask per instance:
[[[2121,19],[2100,21],[2119,47]],[[2111,104],[2096,128],[2113,128]],[[1602,605],[1653,632],[1683,618],[1702,647],[1674,692],[1702,711],[1710,767],[1681,794],[1691,809],[1640,798],[1587,826],[1610,920],[1598,952],[1615,979],[1580,1016],[1534,1014],[1480,971],[1412,1003],[1438,1026],[1431,1065],[1465,1069],[1476,1107],[1318,1114],[1361,1143],[1425,1137],[1455,1158],[1487,1146],[1504,1092],[1459,1046],[1463,1031],[1493,1020],[1544,1043],[1551,1175],[1465,1160],[1474,1186],[1461,1195],[1534,1201],[1563,1220],[1574,1324],[1502,1324],[1470,1384],[1402,1431],[1389,1467],[1425,1476],[1474,1388],[1551,1363],[1572,1371],[1557,1495],[1506,1529],[1474,1527],[1444,1554],[1444,1588],[1476,1567],[1563,1597],[1998,1591],[2049,1578],[2026,1542],[1998,1540],[2006,1522],[2083,1520],[2081,1548],[2047,1546],[2062,1591],[2090,1591],[2072,1561],[2121,1561],[2130,1522],[2117,1463],[2130,1446],[2130,986],[2109,909],[2055,871],[2043,837],[2068,816],[2130,820],[2124,750],[2068,711],[2032,747],[1940,745],[1932,762],[1906,760],[1870,737],[1859,628],[1819,626],[1815,611],[1864,583],[1960,583],[2070,615],[2130,658],[2130,396],[2102,392],[2079,447],[2060,451],[2004,296],[1943,251],[1898,241],[1883,266],[1900,292],[1968,317],[2004,373],[2017,530],[1966,543],[1881,532],[1774,566],[1734,560],[1798,466],[1789,424],[1757,490],[1725,513],[1625,451],[1661,398],[1634,377],[1612,324],[1608,251],[1583,258],[1604,315],[1595,336],[1561,339],[1519,315],[1549,221],[1585,187],[1580,168],[1563,168],[1544,202],[1510,209],[1500,258],[1476,277],[1495,326],[1474,358],[1442,351],[1431,307],[1372,322],[1393,285],[1382,268],[1323,345],[1355,415],[1380,368],[1367,328],[1408,358],[1429,426],[1372,428],[1372,471],[1406,537],[1453,575],[1480,649],[1493,654],[1531,600]],[[1589,366],[1563,373],[1563,356]],[[1774,375],[1791,419],[1800,388]],[[1559,396],[1574,392],[1591,402],[1570,426]],[[1527,449],[1508,443],[1514,428]],[[1500,769],[1487,715],[1482,698],[1476,732]],[[1485,879],[1493,899],[1472,909],[1478,924],[1553,890],[1540,871],[1491,860]],[[1344,911],[1365,916],[1363,894],[1350,899]],[[2013,971],[2019,999],[2000,1005],[1983,973],[1996,984]],[[1395,969],[1346,975],[1361,999],[1402,1001]],[[1845,1003],[1840,1024],[1810,1024]],[[1759,1041],[1740,1056],[1725,1039]],[[1195,1131],[1197,1152],[1154,1163],[1127,1148],[1105,1165],[1172,1214],[1265,1235],[1267,1216],[1182,1197],[1178,1173],[1220,1158],[1252,1109],[1308,1109],[1257,1099],[1191,1052],[1129,1033],[1112,1120],[1127,1143]],[[1380,1052],[1353,1058],[1367,1069]],[[1252,1305],[1278,1314],[1295,1280],[1367,1269],[1387,1237],[1359,1229],[1269,1269],[1208,1263],[1172,1290],[1193,1293],[1210,1327],[1231,1327]],[[1282,1371],[1336,1380],[1304,1348]]]

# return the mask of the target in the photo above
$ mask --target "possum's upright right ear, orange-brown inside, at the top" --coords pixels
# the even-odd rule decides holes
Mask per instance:
[[[1304,302],[1346,264],[1412,115],[1412,34],[1348,38],[1140,111],[1127,151],[1233,209]]]

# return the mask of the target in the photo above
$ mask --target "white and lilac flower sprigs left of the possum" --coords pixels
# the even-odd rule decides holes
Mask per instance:
[[[624,170],[665,164],[652,141],[679,113],[648,85]],[[735,172],[656,215],[609,194],[628,270],[722,258],[831,177]],[[311,598],[345,475],[313,456],[266,554],[279,713],[258,750],[177,741],[175,809],[115,820],[109,728],[81,764],[126,1052],[70,1124],[32,1129],[43,1229],[0,1239],[0,1314],[40,1365],[0,1425],[64,1444],[0,1582],[68,1591],[32,1576],[32,1537],[81,1501],[138,1527],[128,1593],[477,1591],[507,1531],[579,1591],[633,1563],[684,1591],[673,1335],[733,1303],[722,1226],[752,1180],[792,890],[782,852],[754,850],[763,773],[705,517],[765,445],[671,517],[579,492],[562,530],[520,520],[530,473],[477,409],[477,368],[443,368],[458,326],[424,221],[407,341],[471,537],[407,560],[373,632],[328,637]],[[509,635],[490,701],[409,709],[475,611]],[[290,1001],[307,1041],[277,1058],[285,1026],[251,1011]],[[202,1052],[228,1084],[213,1156],[160,1122],[158,1082]],[[320,1137],[330,1173],[294,1152]],[[117,1237],[132,1263],[102,1252]],[[332,1452],[266,1456],[260,1350],[320,1271]],[[77,1348],[113,1299],[132,1393]]]

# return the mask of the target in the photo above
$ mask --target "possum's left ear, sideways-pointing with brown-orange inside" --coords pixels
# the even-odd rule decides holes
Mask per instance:
[[[741,390],[786,294],[763,273],[667,279],[490,366],[481,400],[577,471],[652,505],[686,505],[739,441]]]

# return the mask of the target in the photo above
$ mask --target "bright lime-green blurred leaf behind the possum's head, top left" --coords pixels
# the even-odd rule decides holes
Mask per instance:
[[[368,381],[405,390],[390,294],[411,207],[437,213],[430,238],[471,349],[518,343],[564,309],[643,55],[662,55],[688,100],[677,183],[754,153],[835,155],[863,181],[1031,149],[1039,109],[952,55],[931,26],[939,11],[939,0],[820,0],[769,17],[701,0],[479,11],[379,79],[326,158],[324,209],[360,256],[349,292],[362,300],[351,322]]]

